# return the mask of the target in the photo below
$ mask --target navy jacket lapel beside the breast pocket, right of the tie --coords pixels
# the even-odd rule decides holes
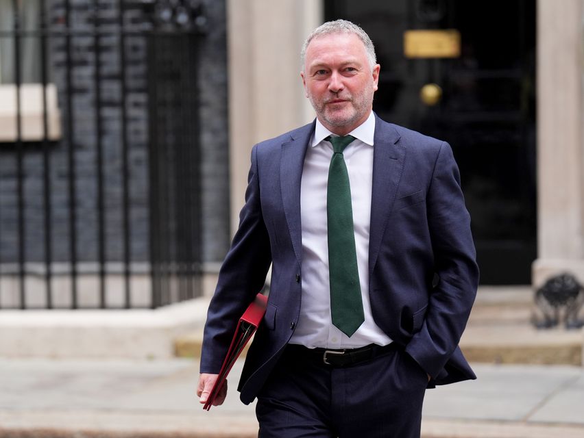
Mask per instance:
[[[398,140],[400,134],[396,128],[376,115],[369,227],[369,275],[373,273],[377,261],[383,233],[404,169],[406,149],[400,146]]]

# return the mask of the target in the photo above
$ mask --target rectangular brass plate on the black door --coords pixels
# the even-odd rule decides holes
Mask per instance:
[[[404,55],[406,57],[459,57],[461,34],[456,29],[406,30]]]

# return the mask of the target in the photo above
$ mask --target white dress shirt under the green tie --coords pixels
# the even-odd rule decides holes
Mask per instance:
[[[357,268],[365,322],[351,337],[332,325],[326,225],[326,185],[332,144],[324,139],[334,134],[317,120],[302,172],[302,305],[291,344],[337,349],[391,343],[391,339],[375,324],[369,302],[369,220],[374,132],[375,116],[372,112],[362,125],[349,133],[356,140],[343,151],[351,185]]]

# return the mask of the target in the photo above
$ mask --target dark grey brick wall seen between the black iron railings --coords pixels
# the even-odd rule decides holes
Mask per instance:
[[[51,28],[65,29],[63,0],[48,1]],[[93,31],[93,2],[71,0],[71,27],[75,31]],[[122,221],[122,121],[121,66],[117,29],[119,1],[101,0],[97,10],[101,30],[112,34],[99,38],[99,101],[101,106],[102,175],[104,178],[104,224],[106,259],[121,261]],[[126,1],[124,25],[138,29],[151,27],[140,1]],[[228,247],[228,132],[225,2],[207,1],[206,31],[199,38],[200,215],[202,219],[203,261],[220,261]],[[97,118],[95,111],[95,39],[90,34],[71,38],[71,55],[66,55],[66,38],[53,36],[47,47],[51,81],[58,87],[62,116],[62,140],[49,146],[50,203],[53,261],[69,261],[69,141],[73,140],[75,173],[75,214],[77,257],[79,261],[97,261]],[[149,87],[147,40],[142,35],[126,36],[126,99],[131,260],[149,257],[149,163],[148,143]],[[68,68],[71,68],[68,71]],[[71,118],[67,88],[71,75]],[[23,200],[26,261],[45,260],[45,183],[42,144],[23,144]],[[17,149],[0,148],[0,261],[13,263],[18,253]]]

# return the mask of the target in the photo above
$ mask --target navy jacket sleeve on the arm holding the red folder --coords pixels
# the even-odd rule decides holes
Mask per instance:
[[[239,317],[262,289],[271,263],[269,236],[260,203],[257,145],[247,177],[239,228],[226,255],[204,329],[200,372],[217,374]]]

